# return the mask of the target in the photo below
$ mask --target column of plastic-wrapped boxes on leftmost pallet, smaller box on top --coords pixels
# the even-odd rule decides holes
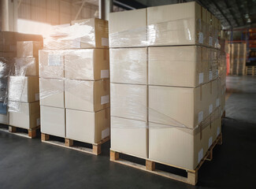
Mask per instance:
[[[14,76],[9,76],[9,125],[35,128],[40,125],[39,50],[43,42],[17,42]]]

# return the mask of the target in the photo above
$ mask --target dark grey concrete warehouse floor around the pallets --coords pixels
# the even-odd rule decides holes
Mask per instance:
[[[198,185],[0,132],[0,188],[256,188],[256,77],[228,76],[223,145],[198,172]]]

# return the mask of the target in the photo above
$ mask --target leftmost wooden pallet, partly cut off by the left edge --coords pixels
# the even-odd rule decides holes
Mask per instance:
[[[6,128],[0,128],[0,131],[2,132],[11,132],[14,135],[20,135],[27,137],[29,139],[34,139],[36,137],[36,131],[40,129],[40,126],[37,126],[35,128],[17,128],[12,125],[6,125]],[[27,132],[28,131],[28,132]]]

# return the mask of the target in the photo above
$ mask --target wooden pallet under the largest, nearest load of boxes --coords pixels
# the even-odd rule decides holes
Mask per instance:
[[[122,165],[128,165],[135,169],[141,169],[143,171],[151,172],[151,173],[154,173],[159,176],[165,176],[169,179],[178,180],[180,182],[195,185],[198,182],[198,170],[200,169],[200,167],[202,166],[204,161],[206,161],[206,160],[211,161],[213,159],[213,148],[217,144],[219,144],[219,145],[222,144],[222,133],[217,137],[217,139],[214,141],[212,146],[210,146],[209,150],[206,152],[206,155],[204,156],[204,158],[202,158],[202,160],[200,161],[200,163],[198,164],[198,166],[196,167],[195,170],[188,170],[188,169],[184,169],[181,167],[177,167],[175,165],[168,165],[173,168],[185,170],[187,172],[187,177],[179,176],[179,175],[176,175],[176,174],[173,174],[170,172],[165,172],[165,171],[155,169],[156,163],[160,163],[162,165],[166,165],[166,164],[163,164],[163,163],[157,162],[157,161],[152,161],[150,159],[145,159],[146,160],[145,165],[139,165],[132,161],[123,160],[123,159],[119,158],[119,154],[123,154],[123,153],[117,152],[114,150],[110,150],[110,161],[114,161],[114,162],[120,163]],[[126,154],[126,155],[129,155],[129,154]]]

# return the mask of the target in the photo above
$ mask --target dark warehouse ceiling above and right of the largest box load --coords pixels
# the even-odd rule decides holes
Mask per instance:
[[[124,9],[142,9],[179,2],[198,2],[221,20],[224,29],[255,27],[256,0],[113,0]]]

